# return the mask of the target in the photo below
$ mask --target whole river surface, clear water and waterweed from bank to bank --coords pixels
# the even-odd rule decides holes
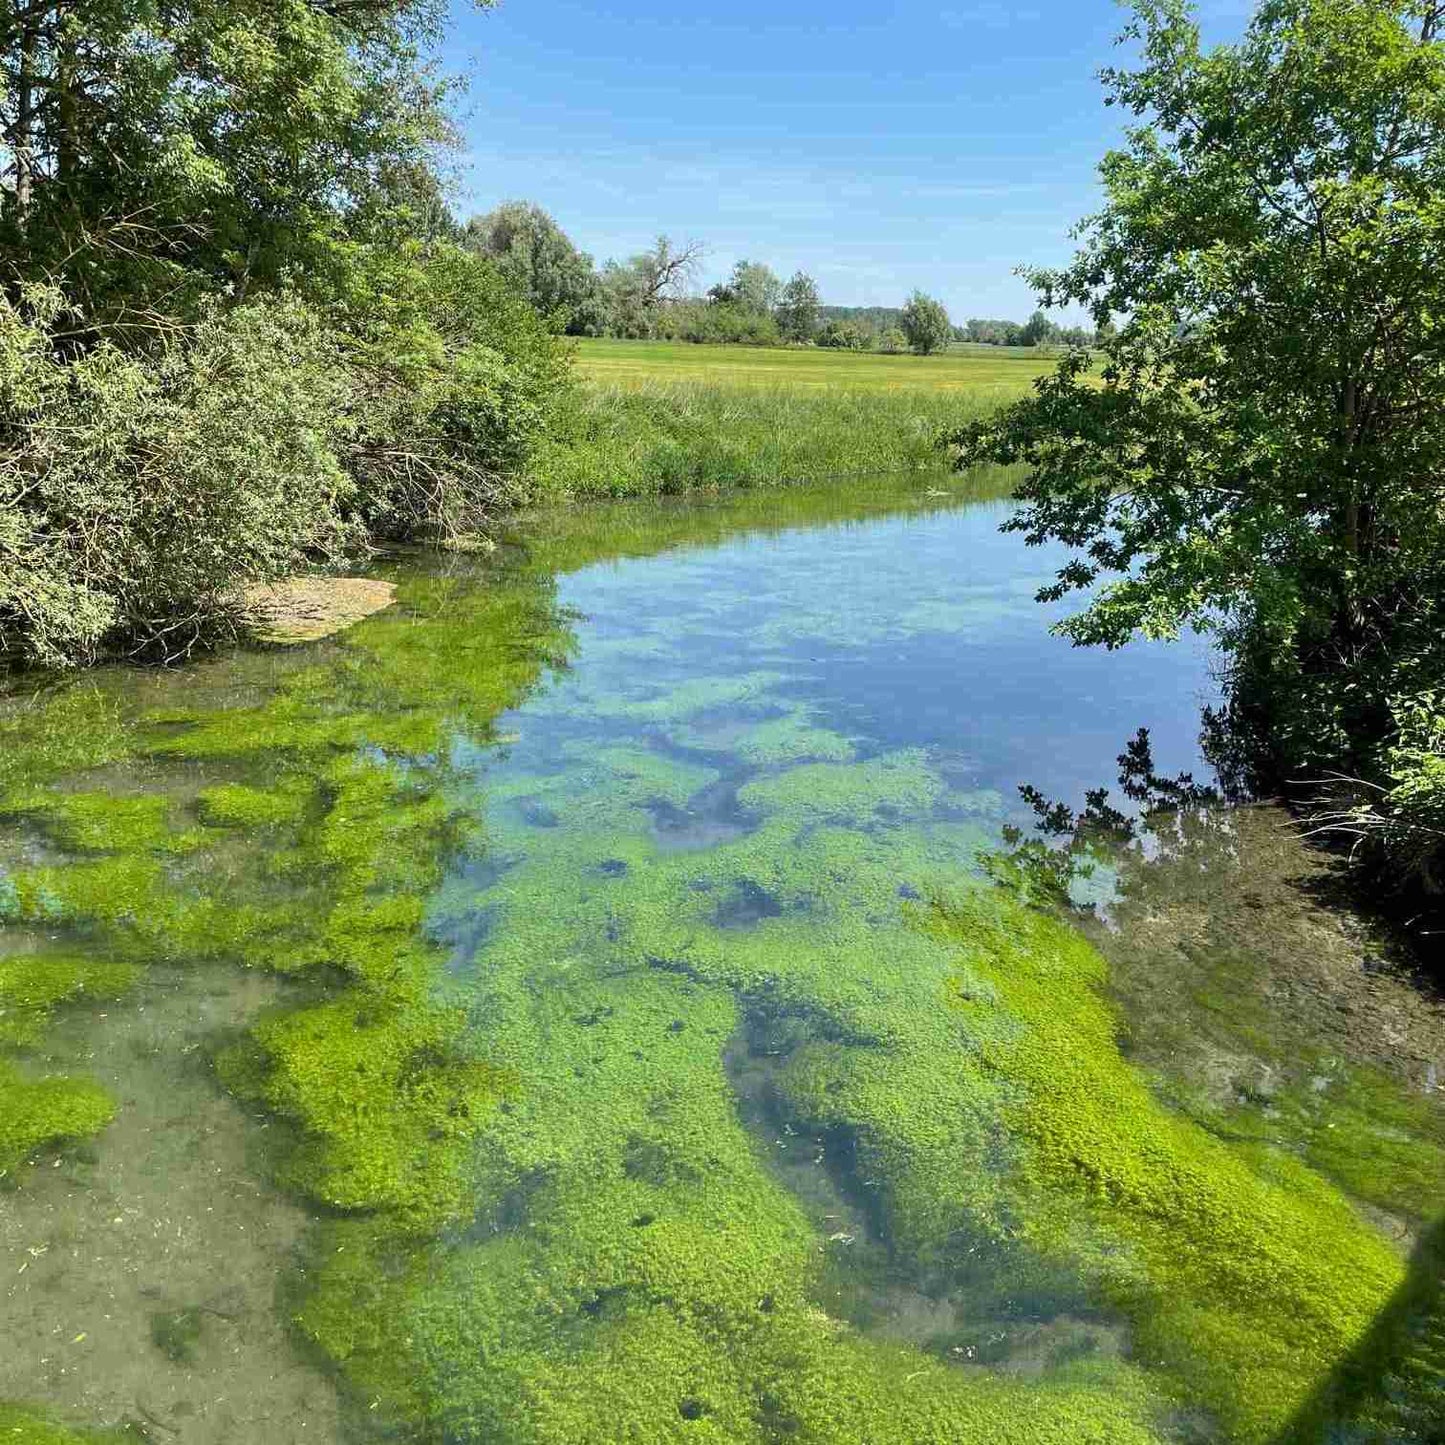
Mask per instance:
[[[1208,657],[1068,649],[996,488],[890,487],[17,682],[0,1439],[1439,1438],[1445,1023],[1334,1027],[1243,815],[1108,928],[988,883],[1019,783],[1201,769]]]

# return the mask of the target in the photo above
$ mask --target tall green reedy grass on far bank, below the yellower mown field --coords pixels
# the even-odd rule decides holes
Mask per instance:
[[[926,387],[588,383],[530,480],[551,500],[941,470],[941,434],[1000,400]]]

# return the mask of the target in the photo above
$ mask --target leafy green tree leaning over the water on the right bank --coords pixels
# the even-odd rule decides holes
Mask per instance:
[[[1043,597],[1105,584],[1064,633],[1221,626],[1298,704],[1290,767],[1373,746],[1387,692],[1445,676],[1442,22],[1267,0],[1205,51],[1182,0],[1136,4],[1104,208],[1027,273],[1094,314],[1101,374],[1075,351],[954,438],[1029,467],[1010,526],[1072,548]]]

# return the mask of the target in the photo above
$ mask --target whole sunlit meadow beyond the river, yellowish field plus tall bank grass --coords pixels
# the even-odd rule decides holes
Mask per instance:
[[[1029,390],[1049,357],[584,340],[578,393],[535,499],[938,471],[941,436]]]

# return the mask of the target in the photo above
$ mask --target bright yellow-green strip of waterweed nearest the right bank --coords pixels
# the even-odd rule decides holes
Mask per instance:
[[[1026,1237],[1078,1254],[1231,1438],[1270,1438],[1389,1299],[1399,1259],[1318,1175],[1155,1103],[1077,933],[997,897],[938,928],[994,990],[983,1001],[965,984],[959,1007],[978,1019],[984,1069],[1020,1090],[1004,1117]],[[998,1030],[1000,1012],[1017,1032]]]

